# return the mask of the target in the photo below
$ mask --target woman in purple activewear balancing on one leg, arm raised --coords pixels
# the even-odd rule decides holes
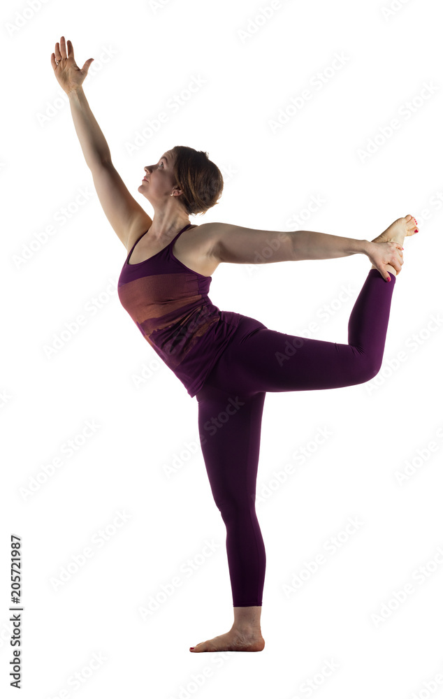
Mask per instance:
[[[89,109],[81,85],[92,60],[80,70],[72,43],[66,50],[63,36],[51,56],[103,210],[128,250],[119,299],[154,351],[196,396],[203,458],[226,524],[233,626],[190,650],[261,651],[266,555],[254,502],[266,392],[333,389],[377,375],[403,264],[402,243],[418,231],[416,219],[399,218],[372,241],[222,223],[196,226],[189,215],[217,203],[223,180],[207,154],[184,146],[144,168],[138,191],[154,208],[151,219],[115,171]],[[253,318],[220,311],[208,298],[220,262],[332,259],[357,252],[368,256],[372,268],[349,317],[349,345],[269,330]]]

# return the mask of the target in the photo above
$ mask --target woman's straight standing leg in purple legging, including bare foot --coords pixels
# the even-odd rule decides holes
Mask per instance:
[[[226,525],[234,607],[231,630],[194,652],[261,651],[260,612],[266,553],[255,511],[261,418],[266,394],[228,394],[209,379],[197,394],[201,449],[212,496]]]

